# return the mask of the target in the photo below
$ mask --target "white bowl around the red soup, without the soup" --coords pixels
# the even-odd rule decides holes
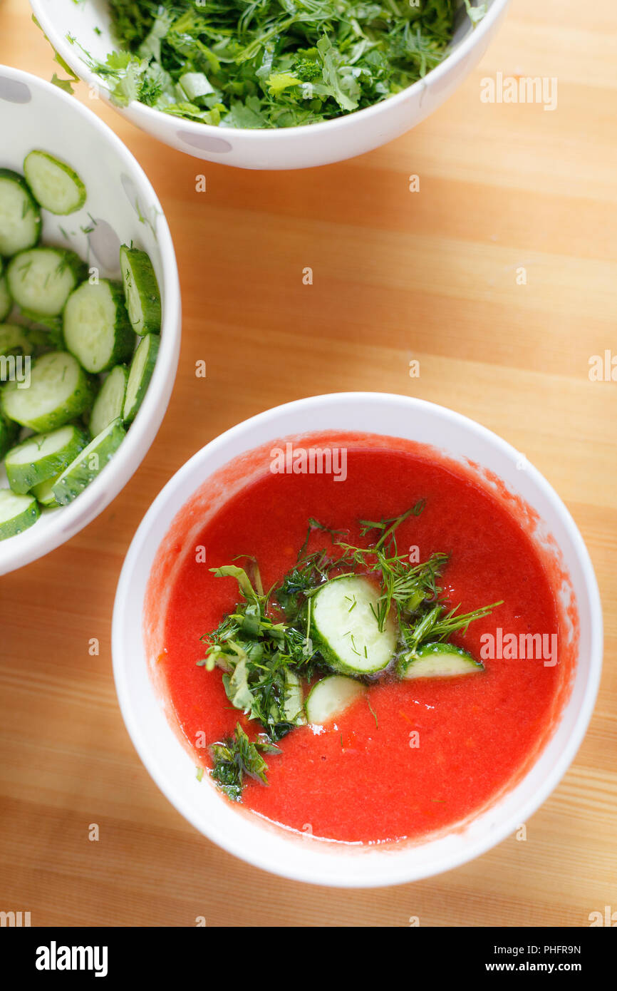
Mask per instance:
[[[197,781],[194,758],[165,715],[164,696],[151,676],[155,658],[149,656],[144,630],[136,621],[145,613],[151,572],[172,524],[180,554],[194,547],[190,519],[183,518],[187,501],[200,489],[207,493],[208,480],[233,459],[281,437],[305,434],[308,424],[311,432],[365,432],[415,441],[462,465],[471,463],[474,470],[487,470],[487,478],[493,480],[487,485],[522,500],[537,516],[534,539],[552,548],[567,576],[556,594],[574,618],[570,634],[577,659],[553,735],[524,777],[489,808],[420,842],[360,846],[315,839],[232,806],[211,782]],[[258,867],[335,886],[389,885],[437,874],[477,856],[524,823],[558,784],[582,739],[597,692],[601,644],[601,611],[587,551],[566,507],[544,478],[522,464],[508,444],[463,416],[419,399],[380,393],[317,396],[279,406],[199,451],[165,486],[142,522],[124,564],[113,620],[114,672],[123,716],[142,760],[169,801],[210,839]]]

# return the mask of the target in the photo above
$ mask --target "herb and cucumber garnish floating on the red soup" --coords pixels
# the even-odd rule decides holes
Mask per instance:
[[[265,755],[280,753],[277,742],[297,726],[323,728],[362,695],[370,706],[380,678],[481,676],[483,665],[450,640],[501,603],[460,613],[438,584],[448,554],[414,563],[399,553],[398,527],[423,508],[421,500],[390,519],[360,520],[362,547],[311,518],[295,566],[268,593],[254,558],[247,570],[212,569],[236,580],[242,601],[201,637],[198,664],[221,672],[229,702],[255,729],[251,740],[238,722],[210,746],[210,774],[228,798],[241,801],[247,775],[267,783]]]

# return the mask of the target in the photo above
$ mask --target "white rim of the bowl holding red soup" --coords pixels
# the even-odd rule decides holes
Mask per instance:
[[[420,413],[422,411],[431,412],[433,414],[441,415],[445,420],[462,425],[464,428],[469,430],[471,434],[474,434],[476,437],[496,446],[497,449],[507,455],[510,459],[517,460],[520,457],[519,452],[517,452],[511,444],[503,440],[503,438],[501,438],[498,434],[477,423],[475,420],[464,416],[462,413],[458,413],[449,407],[430,402],[426,399],[389,392],[356,391],[324,393],[323,395],[295,399],[291,402],[274,406],[270,409],[264,410],[263,412],[257,413],[255,416],[241,421],[226,430],[224,433],[213,438],[213,440],[204,445],[204,447],[200,448],[199,451],[197,451],[191,458],[188,459],[188,461],[184,463],[184,465],[178,469],[178,471],[171,477],[171,479],[169,479],[154,499],[154,502],[148,509],[133,537],[133,540],[131,541],[118,581],[113,610],[112,655],[114,680],[120,710],[125,721],[125,725],[143,764],[167,801],[169,801],[176,811],[179,812],[180,815],[182,815],[183,818],[194,826],[200,833],[205,835],[211,841],[217,843],[228,853],[232,853],[236,857],[239,857],[241,860],[289,880],[341,888],[387,887],[422,880],[426,877],[432,877],[443,873],[444,871],[459,867],[475,857],[480,856],[482,853],[485,853],[493,846],[502,842],[508,835],[512,834],[522,822],[527,822],[527,820],[540,808],[549,795],[555,790],[576,755],[593,713],[602,669],[602,609],[591,559],[578,527],[572,519],[572,516],[570,515],[560,495],[557,494],[555,489],[538,471],[538,469],[536,469],[531,463],[527,462],[525,466],[526,474],[533,477],[536,486],[543,491],[544,495],[548,497],[557,515],[560,517],[562,524],[565,526],[569,538],[571,539],[574,554],[581,569],[581,576],[589,606],[590,616],[589,670],[587,673],[586,682],[584,684],[584,693],[580,700],[579,710],[575,716],[573,731],[567,739],[566,746],[562,748],[559,758],[553,765],[551,772],[546,775],[546,778],[542,783],[542,787],[534,792],[527,799],[527,801],[517,807],[512,814],[504,818],[500,824],[497,824],[491,829],[487,829],[483,837],[469,843],[467,847],[462,847],[461,851],[456,856],[449,855],[448,858],[445,857],[444,860],[446,861],[447,859],[447,862],[441,863],[437,869],[431,861],[423,863],[419,867],[415,866],[413,869],[408,869],[407,871],[404,870],[402,864],[399,865],[403,868],[400,871],[393,871],[391,866],[389,869],[386,869],[386,857],[388,853],[390,853],[390,850],[384,849],[384,856],[380,861],[383,864],[382,870],[375,869],[374,866],[372,866],[371,869],[365,874],[362,874],[361,870],[358,874],[354,874],[349,869],[338,873],[335,869],[335,862],[338,863],[340,858],[332,856],[331,862],[329,863],[327,869],[325,866],[321,870],[315,869],[315,865],[313,864],[309,871],[308,869],[298,868],[297,865],[292,862],[292,857],[288,856],[286,853],[284,857],[281,856],[280,861],[273,861],[272,858],[267,855],[260,855],[257,843],[251,847],[242,847],[242,843],[237,841],[235,836],[229,835],[220,827],[217,828],[217,826],[212,823],[212,820],[205,820],[203,816],[200,819],[196,814],[194,815],[193,811],[187,807],[187,803],[184,798],[186,788],[182,787],[182,783],[178,785],[175,781],[170,782],[164,780],[163,773],[159,771],[156,761],[151,755],[151,750],[148,746],[146,735],[143,732],[139,716],[136,714],[133,707],[132,694],[127,679],[129,658],[125,655],[123,644],[123,629],[125,623],[128,621],[127,604],[129,602],[130,589],[133,585],[133,573],[142,553],[142,548],[153,539],[151,536],[151,531],[152,534],[156,533],[155,519],[159,510],[164,508],[168,500],[172,500],[174,498],[177,491],[182,488],[185,478],[190,476],[194,468],[197,467],[204,458],[206,458],[209,454],[224,450],[230,441],[241,438],[243,433],[250,432],[251,429],[256,426],[278,423],[278,426],[273,428],[272,439],[285,436],[284,425],[280,423],[280,419],[284,419],[284,416],[288,411],[305,410],[308,414],[310,414],[312,409],[323,404],[324,401],[332,403],[333,406],[342,406],[346,403],[354,403],[359,401],[373,406],[383,403],[390,405],[398,404],[401,411],[403,411],[403,409],[406,409],[407,411],[413,409],[415,412]],[[310,415],[307,416],[307,422],[310,423]],[[291,433],[293,433],[293,431],[291,431]],[[246,450],[250,449],[251,448],[247,448]],[[237,455],[232,456],[229,460],[234,460],[235,457],[237,457]],[[208,477],[209,476],[202,477],[199,484],[202,485]],[[193,492],[195,491],[196,490],[193,489]],[[190,495],[188,498],[190,498]],[[181,509],[181,506],[185,504],[185,502],[185,498],[178,501],[175,505],[175,513]],[[163,539],[164,533],[154,536],[156,548],[160,546],[160,542]],[[146,580],[144,592],[146,592],[147,584],[148,579]],[[142,615],[143,605],[144,600],[142,599]],[[132,613],[132,615],[134,616],[134,613]],[[541,750],[541,752],[537,755],[534,763],[526,772],[524,778],[522,779],[523,781],[525,780],[525,777],[531,773],[537,761],[541,758],[542,753],[543,750]],[[374,850],[378,850],[378,847],[374,847]],[[400,858],[393,856],[390,859],[389,864],[391,865],[397,859]],[[324,860],[324,865],[325,863],[326,861]]]

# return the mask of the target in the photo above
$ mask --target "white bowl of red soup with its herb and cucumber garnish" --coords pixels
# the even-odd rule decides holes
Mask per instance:
[[[191,458],[133,540],[113,627],[169,801],[237,856],[337,886],[436,874],[524,824],[585,732],[601,644],[548,482],[458,413],[380,393],[276,407]]]

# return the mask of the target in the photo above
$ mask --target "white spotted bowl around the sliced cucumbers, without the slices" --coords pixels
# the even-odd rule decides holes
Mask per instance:
[[[22,172],[26,155],[43,149],[68,162],[85,183],[86,202],[76,213],[59,217],[42,211],[42,242],[72,248],[104,278],[119,277],[120,245],[134,242],[153,261],[162,304],[154,375],[125,440],[81,495],[46,510],[23,533],[0,541],[2,575],[43,557],[86,526],[144,459],[175,379],[180,290],[171,235],[154,189],[128,149],[91,110],[37,76],[0,65],[0,135],[0,167]],[[0,487],[7,484],[0,468]]]

